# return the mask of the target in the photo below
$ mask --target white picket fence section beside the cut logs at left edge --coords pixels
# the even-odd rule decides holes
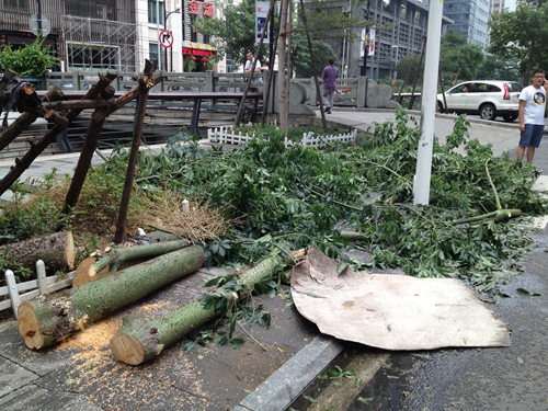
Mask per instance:
[[[13,315],[18,318],[18,309],[21,302],[72,285],[73,272],[68,273],[67,278],[61,281],[57,281],[56,275],[46,277],[46,266],[42,260],[36,262],[36,273],[38,279],[18,284],[13,272],[11,270],[5,271],[7,286],[0,287],[0,311],[11,308]],[[5,296],[9,296],[9,298],[4,299]]]

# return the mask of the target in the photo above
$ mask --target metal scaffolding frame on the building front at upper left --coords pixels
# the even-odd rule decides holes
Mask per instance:
[[[137,24],[65,15],[62,25],[68,70],[136,71]]]

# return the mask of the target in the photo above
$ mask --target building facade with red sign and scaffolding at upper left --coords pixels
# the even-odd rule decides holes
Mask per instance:
[[[38,32],[59,57],[56,70],[142,71],[145,59],[163,71],[210,68],[215,47],[193,30],[199,16],[213,16],[204,0],[0,0],[0,41],[19,48]],[[42,16],[42,18],[38,18]],[[165,47],[167,46],[167,47]]]

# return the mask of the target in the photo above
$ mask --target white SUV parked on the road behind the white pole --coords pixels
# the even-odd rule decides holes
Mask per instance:
[[[472,80],[465,81],[437,94],[441,113],[479,114],[483,119],[499,116],[505,122],[517,118],[522,87],[515,81]]]

